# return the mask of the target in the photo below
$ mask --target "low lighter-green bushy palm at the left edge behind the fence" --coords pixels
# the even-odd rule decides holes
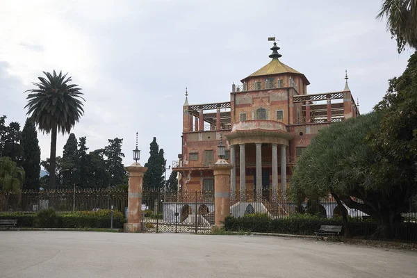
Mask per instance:
[[[10,157],[0,157],[0,210],[4,204],[8,206],[8,197],[10,193],[18,194],[20,202],[20,190],[24,182],[24,170],[17,167],[16,163]]]

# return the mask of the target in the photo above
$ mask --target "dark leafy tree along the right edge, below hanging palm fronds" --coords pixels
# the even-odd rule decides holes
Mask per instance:
[[[374,110],[381,122],[368,136],[377,154],[370,170],[377,183],[386,185],[389,199],[381,197],[380,202],[388,207],[384,221],[393,227],[417,194],[417,52],[404,73],[389,80],[386,95]]]

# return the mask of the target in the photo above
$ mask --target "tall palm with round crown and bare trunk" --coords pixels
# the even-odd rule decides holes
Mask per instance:
[[[84,114],[83,93],[76,84],[69,84],[72,81],[67,74],[60,72],[58,75],[43,72],[44,77],[38,77],[40,83],[33,83],[37,88],[26,90],[29,92],[28,113],[38,128],[43,133],[51,133],[51,161],[49,169],[49,185],[55,188],[55,167],[56,167],[56,133],[70,133],[72,127],[79,122]]]

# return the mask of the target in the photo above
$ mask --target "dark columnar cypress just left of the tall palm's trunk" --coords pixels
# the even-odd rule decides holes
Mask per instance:
[[[40,187],[40,147],[38,131],[29,118],[26,119],[22,130],[21,145],[23,149],[22,167],[26,173],[23,188],[38,190]]]

